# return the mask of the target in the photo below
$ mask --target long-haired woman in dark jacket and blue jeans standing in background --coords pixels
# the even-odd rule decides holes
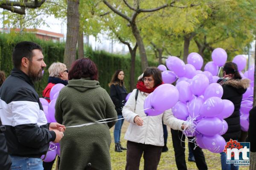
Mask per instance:
[[[110,86],[110,97],[115,105],[118,118],[122,118],[122,108],[125,105],[125,98],[127,96],[127,91],[125,89],[124,82],[124,71],[117,70],[113,74],[111,82],[108,84]],[[126,148],[122,147],[120,144],[121,128],[124,119],[118,120],[114,129],[114,139],[115,139],[115,151],[122,152]]]

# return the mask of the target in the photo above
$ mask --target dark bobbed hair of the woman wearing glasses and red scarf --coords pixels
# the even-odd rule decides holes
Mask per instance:
[[[162,84],[162,72],[156,67],[148,67],[143,73],[143,77],[139,81],[143,81],[144,77],[152,76],[154,78],[154,87]]]

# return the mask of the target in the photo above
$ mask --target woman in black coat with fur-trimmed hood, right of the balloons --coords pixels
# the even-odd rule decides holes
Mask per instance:
[[[233,62],[227,62],[223,68],[223,79],[219,79],[218,83],[222,85],[223,96],[221,99],[227,99],[233,102],[235,110],[231,116],[224,119],[227,122],[228,130],[222,135],[226,142],[239,140],[241,135],[240,127],[240,106],[242,95],[250,85],[249,79],[242,79],[237,65]],[[238,170],[239,166],[233,164],[226,164],[226,153],[221,153],[221,167],[222,170]]]

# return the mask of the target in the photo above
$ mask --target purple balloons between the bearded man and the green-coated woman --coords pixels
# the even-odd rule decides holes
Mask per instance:
[[[55,120],[55,103],[58,98],[58,94],[63,87],[64,87],[64,85],[61,83],[58,83],[52,87],[52,89],[50,91],[50,102],[49,103],[46,99],[39,98],[39,100],[43,106],[44,115],[45,115],[48,123],[56,122],[56,120]],[[51,162],[55,159],[56,154],[60,155],[60,145],[59,145],[59,143],[50,142],[50,147],[46,154],[46,158],[44,159],[44,155],[41,158],[44,159],[45,162]]]

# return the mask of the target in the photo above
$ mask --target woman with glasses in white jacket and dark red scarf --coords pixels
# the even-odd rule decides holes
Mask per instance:
[[[137,82],[138,92],[134,89],[122,110],[123,116],[130,122],[125,133],[127,140],[125,170],[139,170],[142,154],[144,170],[157,170],[164,146],[162,120],[172,129],[184,129],[184,121],[176,119],[171,110],[158,116],[146,116],[143,111],[148,94],[162,84],[161,71],[155,67],[147,68],[143,77]]]

